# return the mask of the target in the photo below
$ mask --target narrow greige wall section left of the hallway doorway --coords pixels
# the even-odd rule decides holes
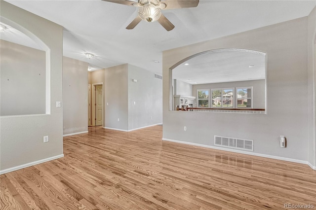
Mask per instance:
[[[63,57],[63,134],[88,131],[88,63]]]

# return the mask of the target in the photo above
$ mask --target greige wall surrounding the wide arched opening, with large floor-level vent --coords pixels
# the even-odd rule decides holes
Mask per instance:
[[[254,153],[308,160],[307,24],[300,18],[163,52],[163,138],[214,145],[214,135],[254,140]],[[169,111],[169,68],[202,51],[267,53],[267,114]],[[183,131],[187,126],[187,131]],[[279,136],[287,139],[280,148]]]

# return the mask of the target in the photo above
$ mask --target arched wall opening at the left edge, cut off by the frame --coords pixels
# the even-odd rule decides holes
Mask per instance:
[[[50,51],[34,34],[1,17],[1,116],[50,113]]]

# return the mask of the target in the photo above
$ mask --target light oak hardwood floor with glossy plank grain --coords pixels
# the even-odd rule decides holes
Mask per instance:
[[[316,209],[307,165],[161,138],[162,126],[64,137],[64,158],[0,176],[0,209]]]

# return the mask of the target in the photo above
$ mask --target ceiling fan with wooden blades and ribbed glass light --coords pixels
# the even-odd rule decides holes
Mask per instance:
[[[158,21],[167,31],[171,31],[174,25],[161,13],[161,9],[178,9],[196,7],[199,0],[104,0],[120,3],[138,8],[138,16],[126,27],[134,29],[137,24],[144,20],[147,22]]]

